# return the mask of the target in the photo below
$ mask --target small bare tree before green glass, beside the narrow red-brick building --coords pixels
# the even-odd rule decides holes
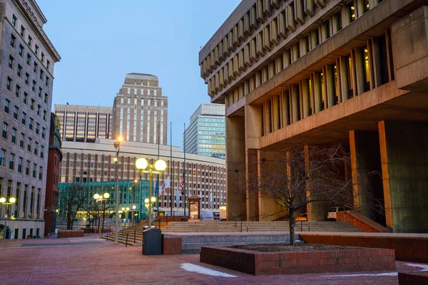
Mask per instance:
[[[63,204],[63,214],[67,217],[67,229],[73,229],[74,219],[76,219],[77,212],[81,210],[87,196],[85,188],[78,183],[71,183],[71,187],[61,193],[59,199]]]

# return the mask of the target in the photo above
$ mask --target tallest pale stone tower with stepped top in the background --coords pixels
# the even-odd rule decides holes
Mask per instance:
[[[168,98],[157,76],[128,73],[113,103],[113,138],[166,145]]]

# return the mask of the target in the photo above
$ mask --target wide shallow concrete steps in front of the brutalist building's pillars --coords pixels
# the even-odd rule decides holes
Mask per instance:
[[[175,232],[288,232],[288,222],[173,222],[162,229],[163,233]],[[347,222],[296,222],[296,232],[361,232]]]

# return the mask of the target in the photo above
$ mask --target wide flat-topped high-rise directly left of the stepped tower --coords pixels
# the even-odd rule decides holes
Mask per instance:
[[[95,142],[97,138],[111,138],[111,107],[55,104],[54,110],[61,121],[62,140]]]

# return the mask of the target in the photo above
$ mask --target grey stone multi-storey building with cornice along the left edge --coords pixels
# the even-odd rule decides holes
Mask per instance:
[[[16,198],[0,205],[0,234],[6,222],[15,239],[43,237],[54,63],[61,58],[36,1],[1,0],[0,17],[0,197]]]

